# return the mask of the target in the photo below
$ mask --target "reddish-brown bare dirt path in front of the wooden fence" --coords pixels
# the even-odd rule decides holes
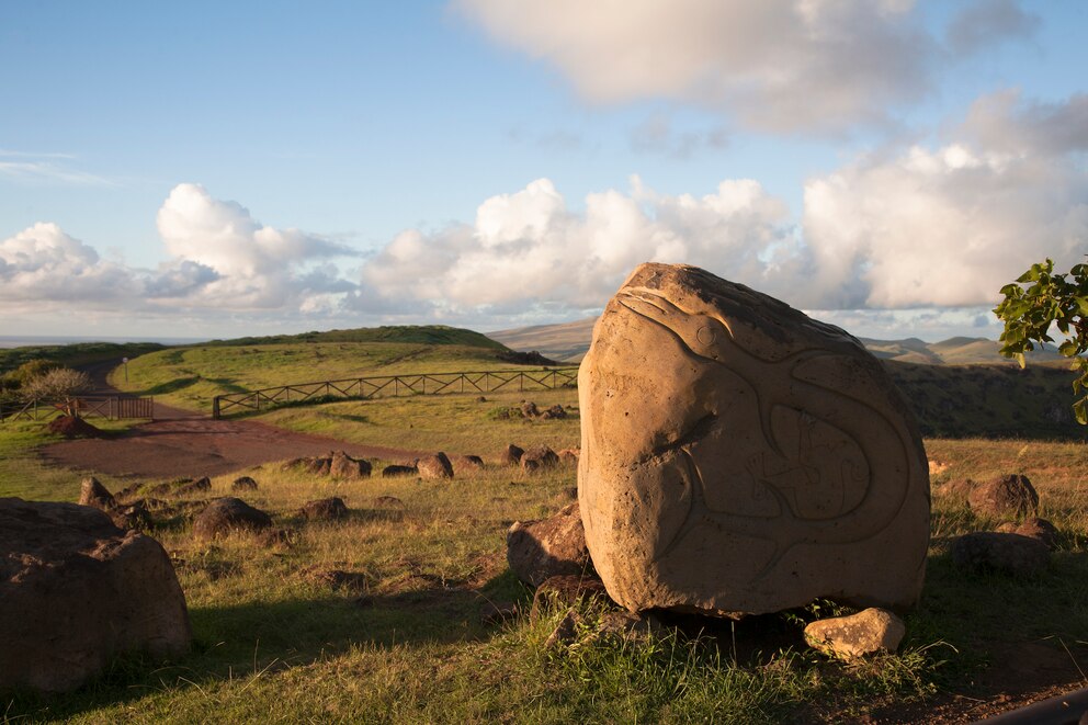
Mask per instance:
[[[88,365],[97,392],[116,394],[106,375],[120,361]],[[93,422],[93,421],[92,421]],[[212,420],[155,404],[155,420],[112,439],[83,439],[41,449],[46,461],[126,477],[217,476],[270,461],[342,450],[356,457],[399,461],[419,452],[345,443],[250,420]]]

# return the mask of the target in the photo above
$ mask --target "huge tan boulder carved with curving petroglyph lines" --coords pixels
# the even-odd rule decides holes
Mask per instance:
[[[684,265],[644,264],[578,376],[578,490],[632,611],[917,601],[929,477],[907,406],[839,328]]]

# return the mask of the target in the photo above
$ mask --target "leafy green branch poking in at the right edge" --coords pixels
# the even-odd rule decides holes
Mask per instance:
[[[1001,287],[1005,299],[994,314],[1005,322],[1001,354],[1013,358],[1023,367],[1024,353],[1053,342],[1052,326],[1065,336],[1057,351],[1073,359],[1079,375],[1073,393],[1080,398],[1073,404],[1077,422],[1088,423],[1088,264],[1075,264],[1067,273],[1054,272],[1054,262],[1032,264],[1012,284]],[[1084,395],[1081,395],[1084,394]]]

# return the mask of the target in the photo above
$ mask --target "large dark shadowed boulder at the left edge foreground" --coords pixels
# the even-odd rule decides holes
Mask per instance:
[[[75,503],[0,498],[0,690],[72,690],[115,656],[189,649],[185,597],[154,539]]]

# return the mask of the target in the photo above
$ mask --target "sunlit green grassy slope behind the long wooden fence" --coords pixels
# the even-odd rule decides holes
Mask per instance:
[[[491,347],[417,342],[307,342],[171,348],[128,363],[110,382],[180,408],[209,411],[212,398],[288,383],[350,377],[511,370]],[[530,367],[531,369],[531,367]]]

